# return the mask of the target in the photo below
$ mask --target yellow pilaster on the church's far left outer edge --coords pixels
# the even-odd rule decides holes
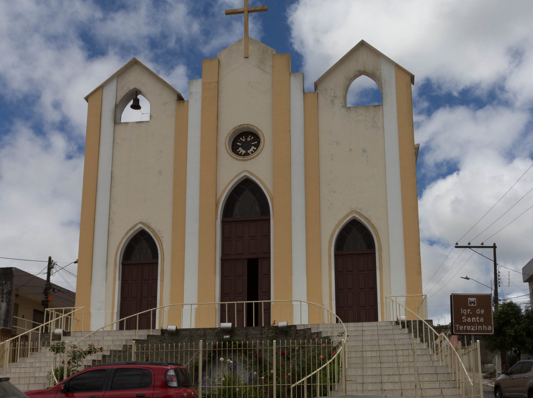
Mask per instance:
[[[76,315],[75,330],[90,330],[91,327],[91,278],[102,95],[103,88],[100,87],[87,98],[87,134],[83,169],[82,214],[79,226],[78,277],[76,281],[76,306],[83,306],[84,314],[83,316],[81,314]]]

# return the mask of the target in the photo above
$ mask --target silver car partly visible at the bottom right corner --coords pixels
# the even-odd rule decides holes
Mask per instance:
[[[533,398],[533,359],[516,362],[494,383],[494,396]]]

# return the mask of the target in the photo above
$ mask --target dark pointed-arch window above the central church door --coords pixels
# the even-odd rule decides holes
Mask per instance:
[[[223,218],[261,217],[263,215],[270,215],[270,206],[263,190],[251,179],[241,181],[228,197]]]

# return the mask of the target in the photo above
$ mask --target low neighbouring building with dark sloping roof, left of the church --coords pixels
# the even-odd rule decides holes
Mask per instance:
[[[18,268],[0,268],[0,334],[9,338],[41,325],[46,280]],[[73,307],[76,293],[51,284],[49,308]]]

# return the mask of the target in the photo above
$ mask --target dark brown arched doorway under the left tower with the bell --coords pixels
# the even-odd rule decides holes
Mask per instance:
[[[154,239],[139,231],[127,244],[122,256],[120,278],[120,319],[157,307],[158,251]],[[120,322],[120,329],[155,329],[155,311]]]

